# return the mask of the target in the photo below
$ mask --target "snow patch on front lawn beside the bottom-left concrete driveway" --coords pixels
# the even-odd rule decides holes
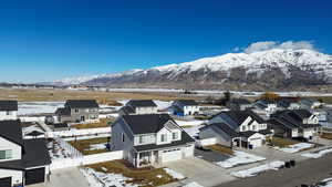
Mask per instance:
[[[127,183],[127,180],[131,180],[131,178],[124,177],[121,174],[104,174],[100,172],[95,172],[92,168],[84,168],[81,169],[85,178],[87,179],[87,183],[91,187],[136,187],[138,185],[134,185],[131,183]]]

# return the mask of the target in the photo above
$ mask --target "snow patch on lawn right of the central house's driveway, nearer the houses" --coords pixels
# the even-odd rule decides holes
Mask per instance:
[[[245,152],[235,152],[232,157],[230,157],[224,162],[218,162],[216,164],[221,167],[225,167],[225,168],[230,168],[230,167],[235,167],[238,165],[261,162],[264,159],[266,159],[264,157],[256,156],[256,155],[248,154]]]

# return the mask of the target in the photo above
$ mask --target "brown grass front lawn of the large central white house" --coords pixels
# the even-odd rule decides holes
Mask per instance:
[[[85,167],[93,168],[94,170],[101,173],[122,174],[125,177],[132,178],[126,183],[133,183],[145,187],[162,186],[168,183],[177,181],[177,179],[174,179],[163,168],[137,169],[128,167],[128,164],[125,160],[106,162],[87,165]],[[107,169],[106,172],[105,168]]]

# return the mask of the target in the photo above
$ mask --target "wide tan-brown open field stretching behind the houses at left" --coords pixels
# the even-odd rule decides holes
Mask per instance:
[[[162,100],[176,98],[204,100],[178,93],[121,93],[102,91],[69,91],[69,90],[32,90],[32,89],[0,89],[0,100],[18,101],[65,101],[65,100],[96,100],[100,104],[118,105],[117,100]]]

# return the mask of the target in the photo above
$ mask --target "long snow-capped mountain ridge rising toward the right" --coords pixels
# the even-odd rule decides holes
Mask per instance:
[[[136,87],[276,87],[332,83],[332,56],[314,50],[228,53],[124,73],[65,79],[63,84]]]

